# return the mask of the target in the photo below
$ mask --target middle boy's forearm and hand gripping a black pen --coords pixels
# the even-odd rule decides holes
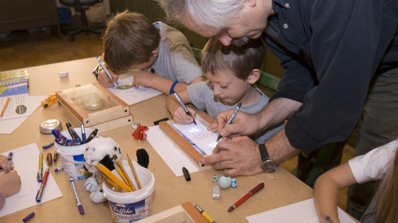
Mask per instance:
[[[182,90],[177,92],[179,98],[181,98],[184,104],[191,103],[189,99],[187,90]],[[183,110],[181,104],[179,104],[178,100],[174,96],[174,94],[170,94],[166,99],[166,108],[169,110],[170,114],[172,114],[174,122],[177,124],[189,124],[193,122],[193,118]],[[188,108],[188,111],[191,112],[191,115],[195,117],[195,110]]]

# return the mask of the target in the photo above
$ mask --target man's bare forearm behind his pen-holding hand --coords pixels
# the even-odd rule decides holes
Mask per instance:
[[[285,121],[285,119],[297,111],[301,105],[301,102],[287,98],[276,98],[272,100],[258,113],[260,129],[267,129]]]

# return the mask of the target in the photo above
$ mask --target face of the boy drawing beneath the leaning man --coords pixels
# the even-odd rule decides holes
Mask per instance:
[[[206,73],[207,79],[213,84],[213,93],[228,104],[239,102],[248,92],[248,79],[237,78],[232,71],[217,71],[212,75]]]

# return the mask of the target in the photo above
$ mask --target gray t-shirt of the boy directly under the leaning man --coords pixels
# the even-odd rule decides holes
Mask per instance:
[[[269,98],[258,88],[256,88],[256,90],[261,93],[261,98],[251,106],[241,106],[239,111],[249,114],[257,114],[268,104]],[[206,109],[207,113],[213,117],[213,119],[217,119],[217,115],[219,113],[225,112],[226,110],[235,109],[236,106],[238,106],[238,103],[226,104],[217,96],[215,96],[213,93],[213,84],[211,84],[209,80],[188,85],[187,92],[192,104],[197,109]],[[285,127],[284,123],[275,125],[274,127],[257,133],[256,136],[252,138],[259,144],[263,143],[265,140],[268,140],[273,135],[281,131],[283,127]]]

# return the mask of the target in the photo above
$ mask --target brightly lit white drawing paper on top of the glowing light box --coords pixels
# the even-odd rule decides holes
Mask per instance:
[[[200,121],[196,121],[196,123],[197,125],[191,123],[188,125],[174,124],[173,126],[209,156],[217,145],[217,134],[207,131],[205,125]]]

